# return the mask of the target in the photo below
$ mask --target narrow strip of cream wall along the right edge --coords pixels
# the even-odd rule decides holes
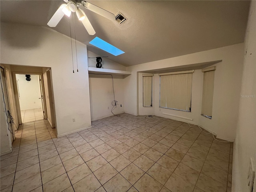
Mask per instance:
[[[244,44],[242,86],[234,142],[232,192],[248,191],[247,173],[250,158],[254,158],[256,163],[256,1],[251,1]],[[256,177],[254,191],[255,189]]]

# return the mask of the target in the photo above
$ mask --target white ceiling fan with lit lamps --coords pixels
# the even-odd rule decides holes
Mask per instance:
[[[88,10],[91,10],[103,17],[106,17],[110,20],[115,20],[114,14],[112,14],[94,4],[91,4],[87,1],[84,1],[84,0],[82,0],[82,1],[81,0],[73,0],[73,1],[64,0],[64,1],[67,4],[62,4],[58,8],[58,10],[54,13],[52,18],[47,23],[48,26],[56,27],[56,25],[60,22],[60,20],[62,19],[62,17],[64,15],[69,17],[71,15],[71,12],[76,12],[76,16],[77,16],[78,20],[80,20],[82,22],[82,24],[86,28],[88,34],[94,35],[95,34],[94,28],[92,27],[92,24],[90,23],[86,14],[84,13],[84,10],[81,9],[83,7]],[[79,8],[79,7],[81,7],[81,8]]]

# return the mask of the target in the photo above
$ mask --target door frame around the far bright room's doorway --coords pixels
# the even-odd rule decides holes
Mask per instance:
[[[17,87],[17,79],[16,74],[31,74],[31,75],[40,75],[41,77],[41,84],[42,84],[42,94],[43,94],[43,103],[44,103],[44,119],[47,119],[47,111],[46,111],[46,101],[45,101],[45,93],[44,93],[44,77],[42,73],[34,73],[34,72],[12,72],[12,79],[13,79],[13,86],[14,86],[14,96],[16,99],[16,108],[17,108],[17,114],[18,114],[18,120],[19,124],[22,124],[22,118],[21,118],[21,112],[20,112],[20,100],[18,95],[18,87]]]

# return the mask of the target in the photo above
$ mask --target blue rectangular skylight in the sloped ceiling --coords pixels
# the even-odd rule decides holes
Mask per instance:
[[[106,51],[106,52],[108,52],[108,53],[110,53],[110,54],[112,54],[112,55],[114,55],[114,56],[118,56],[118,55],[124,53],[122,50],[116,48],[115,46],[109,44],[108,42],[106,42],[106,41],[104,41],[104,40],[102,40],[98,37],[94,38],[89,43],[98,47],[98,48],[100,48],[100,49],[102,49],[102,50],[104,50],[104,51]]]

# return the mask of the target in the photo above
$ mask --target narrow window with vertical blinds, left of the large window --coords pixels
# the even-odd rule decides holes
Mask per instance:
[[[153,74],[142,74],[144,107],[152,107],[152,76]]]

